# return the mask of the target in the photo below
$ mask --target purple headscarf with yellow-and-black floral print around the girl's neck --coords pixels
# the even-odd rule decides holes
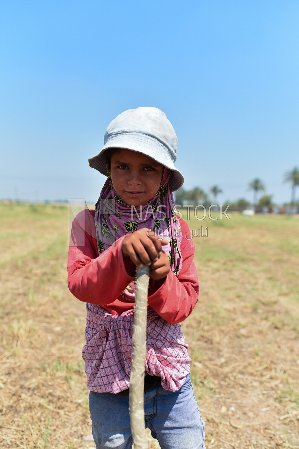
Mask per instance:
[[[101,254],[125,234],[137,229],[156,231],[169,243],[162,247],[169,258],[170,269],[177,276],[182,268],[181,226],[175,216],[173,194],[169,186],[171,170],[164,168],[160,187],[147,203],[141,206],[126,204],[116,193],[109,176],[95,204],[95,227],[98,251]],[[136,277],[121,295],[134,301]]]

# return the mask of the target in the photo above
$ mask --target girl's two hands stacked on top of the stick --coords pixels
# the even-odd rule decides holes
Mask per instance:
[[[166,262],[168,263],[167,273],[170,270],[169,259],[162,251],[162,245],[167,245],[167,243],[168,241],[165,238],[161,240],[155,232],[148,228],[142,228],[134,231],[123,240],[121,251],[124,258],[130,257],[137,267],[142,267],[143,264],[149,266],[151,277],[158,280],[161,279],[161,273],[166,272]]]

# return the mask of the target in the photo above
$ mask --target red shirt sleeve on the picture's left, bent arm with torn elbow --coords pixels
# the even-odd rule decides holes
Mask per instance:
[[[72,223],[68,256],[68,285],[80,301],[98,305],[118,298],[135,277],[135,265],[124,260],[121,244],[127,236],[117,239],[115,246],[97,253],[94,216],[86,209]]]

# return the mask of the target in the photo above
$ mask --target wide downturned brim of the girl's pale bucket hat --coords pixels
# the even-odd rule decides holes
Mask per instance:
[[[181,172],[174,167],[169,155],[168,148],[154,137],[136,132],[124,132],[111,136],[98,154],[88,159],[89,165],[108,176],[104,153],[109,148],[125,148],[126,150],[138,151],[154,159],[156,162],[172,170],[169,185],[173,191],[178,190],[184,183]]]

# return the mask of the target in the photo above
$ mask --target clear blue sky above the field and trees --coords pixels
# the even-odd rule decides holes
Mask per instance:
[[[184,187],[290,201],[299,166],[299,2],[2,1],[0,198],[94,202],[87,159],[123,110],[156,106]],[[297,197],[299,192],[297,191]]]

